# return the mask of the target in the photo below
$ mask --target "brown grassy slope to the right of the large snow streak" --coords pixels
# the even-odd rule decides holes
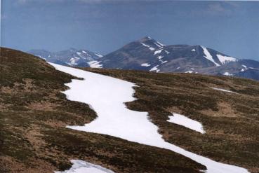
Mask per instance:
[[[128,107],[148,111],[167,141],[220,162],[259,172],[259,82],[197,74],[86,69],[136,83],[135,102]],[[213,90],[224,88],[239,94]],[[168,123],[182,113],[204,125],[199,134]]]

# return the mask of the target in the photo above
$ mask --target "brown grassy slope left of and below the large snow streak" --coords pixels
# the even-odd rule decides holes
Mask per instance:
[[[0,57],[0,172],[53,172],[70,159],[115,172],[198,172],[204,166],[173,152],[106,135],[69,130],[96,118],[60,93],[72,78],[44,60],[7,48]]]

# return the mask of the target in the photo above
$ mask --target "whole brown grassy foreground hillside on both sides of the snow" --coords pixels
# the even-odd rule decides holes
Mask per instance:
[[[4,165],[1,172],[53,172],[68,169],[71,159],[102,165],[114,172],[205,169],[166,149],[67,129],[66,125],[84,125],[96,118],[86,104],[68,101],[60,93],[67,89],[64,83],[75,77],[56,71],[32,55],[6,48],[1,48],[0,67],[3,71],[0,160]],[[127,106],[149,112],[150,120],[159,127],[166,141],[213,160],[258,172],[259,87],[255,81],[192,74],[86,70],[136,83],[138,100],[128,102]],[[206,133],[168,122],[171,113],[181,113],[201,122]]]

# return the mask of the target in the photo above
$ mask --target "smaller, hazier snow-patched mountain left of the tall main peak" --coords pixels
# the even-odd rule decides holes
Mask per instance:
[[[55,53],[47,50],[30,50],[29,53],[56,64],[70,65],[74,67],[102,67],[98,62],[98,59],[100,59],[102,55],[88,50],[70,48],[69,50],[62,50]]]

